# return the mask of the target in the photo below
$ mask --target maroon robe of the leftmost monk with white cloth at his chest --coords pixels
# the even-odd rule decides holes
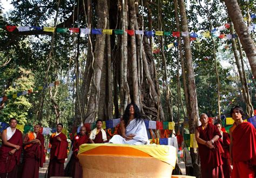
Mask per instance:
[[[22,152],[22,133],[16,128],[14,135],[8,140],[8,142],[19,145],[21,148],[16,150],[13,155],[9,155],[9,152],[14,149],[14,147],[9,147],[2,145],[0,148],[0,177],[6,177],[6,173],[8,173],[8,177],[15,178],[17,177],[17,165],[19,165],[19,158],[21,157]]]

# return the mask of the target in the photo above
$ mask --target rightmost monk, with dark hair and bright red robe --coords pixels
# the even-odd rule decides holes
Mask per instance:
[[[256,171],[256,136],[255,128],[250,122],[242,120],[244,112],[234,106],[230,115],[234,125],[230,128],[230,158],[233,163],[231,177],[255,177]]]

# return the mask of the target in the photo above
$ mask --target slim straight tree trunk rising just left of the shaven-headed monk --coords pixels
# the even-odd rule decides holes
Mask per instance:
[[[188,32],[184,0],[179,1],[179,8],[180,8],[180,15],[181,15],[182,31]],[[188,115],[188,118],[189,118],[190,133],[194,134],[196,130],[196,126],[198,126],[199,116],[198,116],[198,104],[197,104],[197,91],[196,91],[196,83],[194,80],[192,53],[191,53],[189,36],[184,37],[184,50],[185,50],[185,59],[186,59],[187,83],[189,88],[188,94],[189,94],[189,102],[190,102],[190,115]],[[191,154],[192,163],[193,163],[192,175],[200,177],[199,156],[198,156],[197,149],[191,148],[190,154]]]

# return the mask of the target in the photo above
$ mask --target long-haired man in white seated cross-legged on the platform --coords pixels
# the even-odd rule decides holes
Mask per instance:
[[[139,108],[136,104],[127,105],[123,119],[120,122],[120,135],[114,135],[110,143],[120,143],[129,145],[149,144],[144,121],[140,118]]]

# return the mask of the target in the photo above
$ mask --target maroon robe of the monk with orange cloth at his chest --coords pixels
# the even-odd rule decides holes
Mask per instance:
[[[26,138],[24,141],[30,141]],[[40,140],[41,145],[37,143],[31,143],[31,146],[24,149],[24,165],[22,173],[23,178],[38,178],[39,167],[44,166],[44,136],[41,133],[38,133],[35,139]]]

